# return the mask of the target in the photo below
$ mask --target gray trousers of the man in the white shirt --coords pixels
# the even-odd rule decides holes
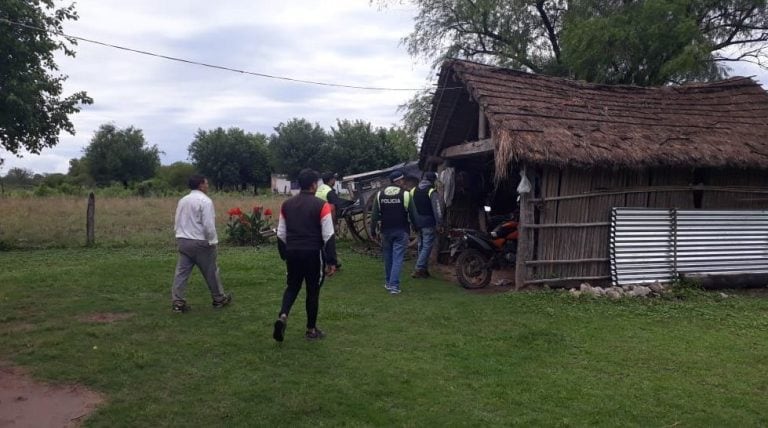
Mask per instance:
[[[173,288],[171,288],[173,301],[185,301],[187,280],[195,266],[203,274],[213,300],[221,300],[224,297],[224,287],[221,285],[219,267],[216,265],[216,246],[210,245],[208,241],[184,238],[176,238],[176,246],[179,249],[179,259],[176,262],[176,275],[173,278]]]

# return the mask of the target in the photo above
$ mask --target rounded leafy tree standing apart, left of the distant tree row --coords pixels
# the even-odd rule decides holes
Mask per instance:
[[[118,181],[128,187],[129,183],[152,178],[160,166],[160,150],[149,146],[143,132],[132,126],[118,129],[112,124],[101,125],[84,152],[81,162],[99,185]]]

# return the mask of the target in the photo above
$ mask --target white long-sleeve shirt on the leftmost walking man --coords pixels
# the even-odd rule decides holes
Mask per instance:
[[[211,245],[218,244],[216,211],[211,198],[199,190],[193,190],[181,198],[176,206],[174,228],[177,238],[208,241]]]

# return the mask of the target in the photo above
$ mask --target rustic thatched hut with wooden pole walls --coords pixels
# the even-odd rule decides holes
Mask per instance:
[[[768,93],[750,78],[608,86],[451,60],[431,118],[420,166],[451,173],[449,221],[478,227],[483,205],[520,210],[518,286],[610,279],[614,208],[718,209],[726,223],[728,210],[768,209]],[[518,194],[521,177],[530,192]],[[643,247],[668,232],[643,221],[638,265],[675,256]],[[762,217],[726,238],[751,243],[742,270],[768,271]],[[702,263],[727,270],[728,251],[713,254]]]

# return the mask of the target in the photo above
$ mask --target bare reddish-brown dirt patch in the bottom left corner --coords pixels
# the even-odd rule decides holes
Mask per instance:
[[[77,427],[101,394],[80,385],[34,381],[22,369],[0,362],[0,427]]]

